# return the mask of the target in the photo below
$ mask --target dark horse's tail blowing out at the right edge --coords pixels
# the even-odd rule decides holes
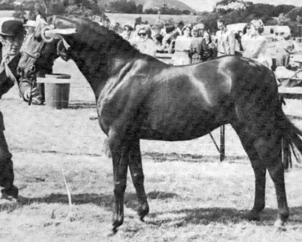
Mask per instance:
[[[282,112],[283,113],[283,112]],[[292,167],[291,153],[298,163],[302,160],[302,131],[295,127],[283,113],[282,115],[282,160],[284,169]]]

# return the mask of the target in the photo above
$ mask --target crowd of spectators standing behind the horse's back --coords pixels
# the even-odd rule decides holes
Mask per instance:
[[[157,22],[154,25],[138,25],[134,28],[129,24],[122,28],[116,23],[111,28],[129,41],[142,53],[156,56],[156,53],[171,53],[173,65],[190,65],[209,61],[219,56],[235,54],[254,59],[268,68],[272,66],[272,56],[267,54],[267,48],[274,47],[276,55],[282,52],[282,65],[288,65],[289,52],[293,45],[290,36],[284,35],[276,43],[268,43],[262,35],[264,25],[262,20],[253,20],[243,30],[234,32],[228,30],[223,20],[217,20],[216,33],[206,30],[204,24],[187,24],[182,21],[177,26]],[[281,50],[280,50],[281,49]],[[286,54],[287,52],[287,54]]]

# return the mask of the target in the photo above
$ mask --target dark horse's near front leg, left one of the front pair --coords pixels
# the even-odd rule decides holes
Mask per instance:
[[[113,162],[114,179],[114,212],[113,231],[123,224],[124,221],[124,194],[127,183],[128,149],[125,143],[118,139],[110,139],[110,150]]]

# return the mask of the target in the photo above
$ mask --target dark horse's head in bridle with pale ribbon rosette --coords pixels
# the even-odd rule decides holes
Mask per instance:
[[[58,17],[51,18],[49,24],[40,22],[22,45],[17,69],[20,76],[28,78],[36,71],[51,70],[55,58],[59,56],[66,61],[70,47],[67,38],[76,29],[73,22]]]

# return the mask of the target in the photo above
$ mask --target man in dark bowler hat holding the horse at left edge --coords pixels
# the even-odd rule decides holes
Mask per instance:
[[[8,92],[16,82],[19,85],[20,95],[28,100],[35,94],[36,88],[31,90],[31,81],[20,80],[17,66],[21,57],[20,48],[23,42],[25,29],[23,23],[17,20],[4,21],[0,27],[0,98]],[[12,154],[4,136],[3,115],[0,111],[0,205],[15,203],[18,199],[18,188],[14,186],[14,170]]]

